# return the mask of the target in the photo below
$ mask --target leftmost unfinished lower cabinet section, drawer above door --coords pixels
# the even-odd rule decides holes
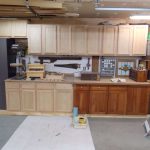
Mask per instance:
[[[20,111],[20,89],[18,82],[6,82],[6,109],[10,111]]]

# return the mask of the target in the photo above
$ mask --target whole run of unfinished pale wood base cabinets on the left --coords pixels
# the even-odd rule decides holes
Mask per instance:
[[[7,110],[23,112],[71,113],[72,84],[6,82]]]

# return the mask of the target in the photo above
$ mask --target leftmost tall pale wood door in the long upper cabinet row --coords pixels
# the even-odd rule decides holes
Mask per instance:
[[[28,52],[31,54],[42,53],[42,28],[41,25],[28,25],[27,26],[28,36]]]

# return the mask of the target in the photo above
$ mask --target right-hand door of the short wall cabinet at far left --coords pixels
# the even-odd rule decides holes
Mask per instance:
[[[27,36],[27,21],[12,21],[12,37]]]

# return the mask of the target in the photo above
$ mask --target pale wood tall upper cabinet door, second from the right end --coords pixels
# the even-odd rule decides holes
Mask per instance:
[[[132,55],[133,26],[119,26],[118,55]]]

